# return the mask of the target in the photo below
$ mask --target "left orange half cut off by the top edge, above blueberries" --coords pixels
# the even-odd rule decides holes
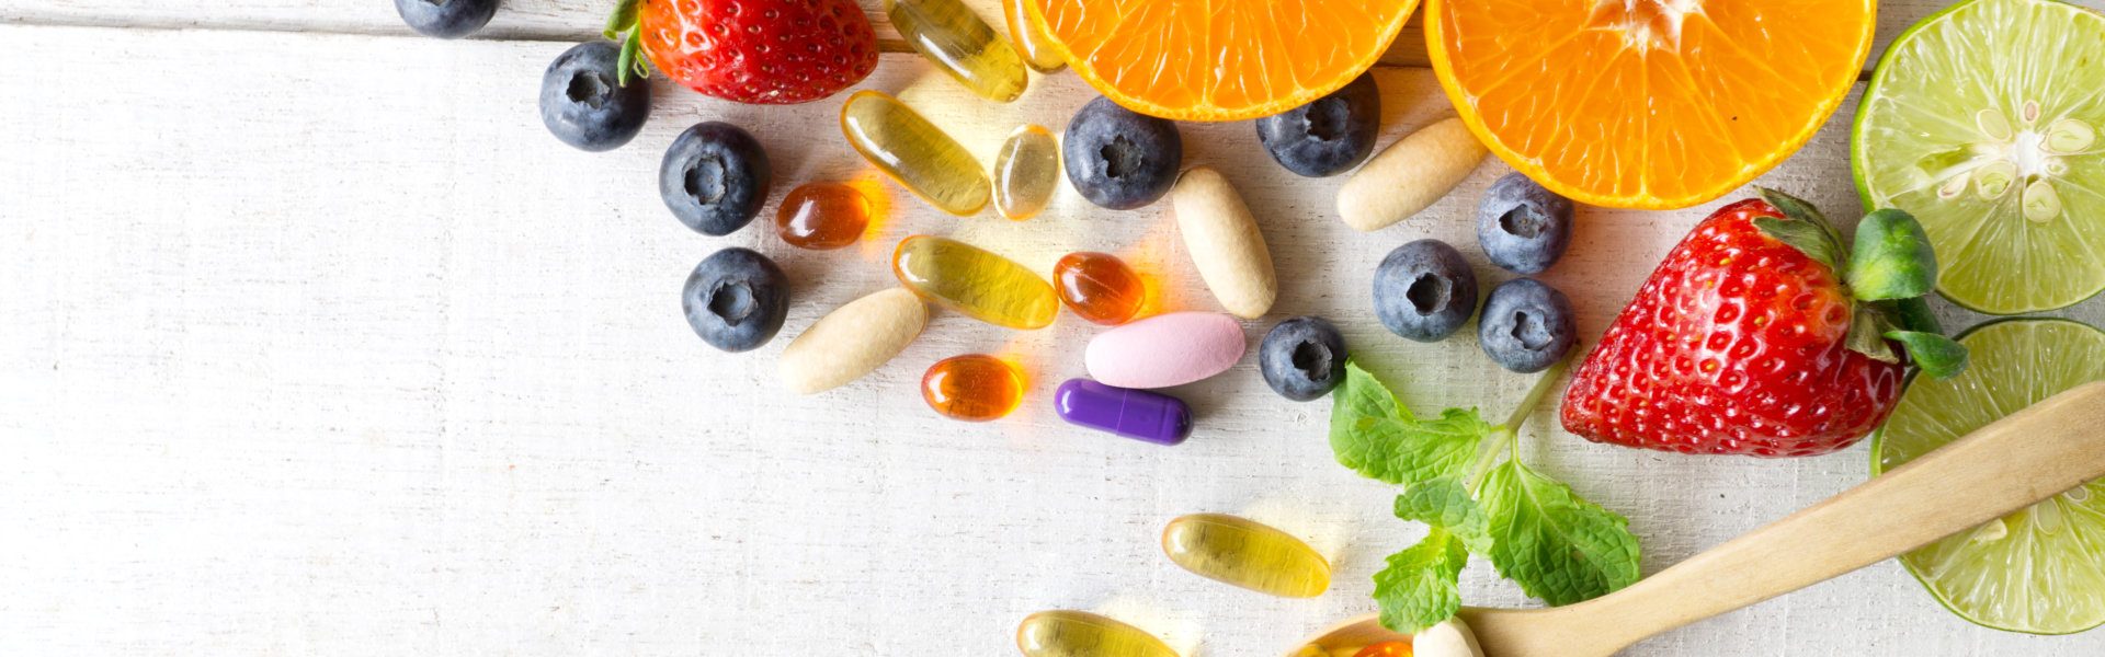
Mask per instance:
[[[1244,120],[1320,99],[1375,65],[1417,0],[1023,0],[1105,97],[1175,120]]]

